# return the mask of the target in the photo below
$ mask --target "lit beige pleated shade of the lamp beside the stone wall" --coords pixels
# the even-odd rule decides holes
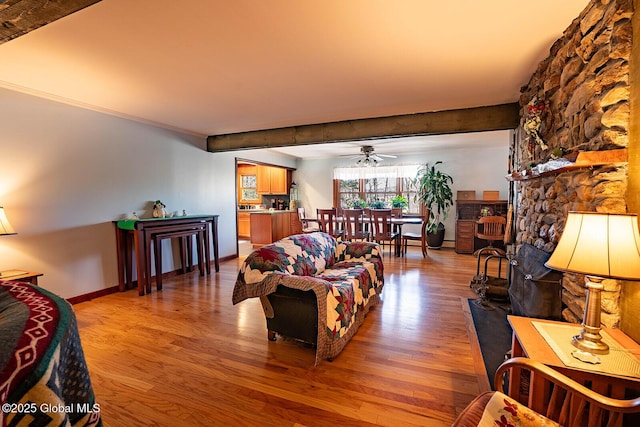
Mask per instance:
[[[572,273],[639,280],[637,215],[569,212],[560,242],[545,265]]]

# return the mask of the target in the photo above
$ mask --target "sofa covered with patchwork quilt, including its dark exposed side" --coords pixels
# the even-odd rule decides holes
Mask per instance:
[[[316,364],[337,356],[380,301],[380,246],[338,242],[323,232],[297,234],[254,250],[243,262],[233,304],[260,298],[268,338],[310,343]]]

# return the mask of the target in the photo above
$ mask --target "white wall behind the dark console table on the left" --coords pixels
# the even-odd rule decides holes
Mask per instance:
[[[256,150],[208,153],[205,138],[6,89],[0,111],[0,206],[18,232],[0,236],[0,270],[40,271],[63,297],[117,285],[112,221],[149,217],[155,199],[220,215],[220,255],[235,254],[235,158],[295,166]],[[163,271],[175,269],[164,253]]]

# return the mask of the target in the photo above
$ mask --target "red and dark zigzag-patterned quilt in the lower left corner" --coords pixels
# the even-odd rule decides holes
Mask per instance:
[[[101,426],[73,309],[0,281],[0,426]]]

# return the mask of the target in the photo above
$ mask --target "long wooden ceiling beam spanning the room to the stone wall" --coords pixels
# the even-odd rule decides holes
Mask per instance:
[[[216,153],[402,136],[515,129],[519,124],[519,114],[518,103],[511,103],[210,135],[207,137],[207,151]]]

